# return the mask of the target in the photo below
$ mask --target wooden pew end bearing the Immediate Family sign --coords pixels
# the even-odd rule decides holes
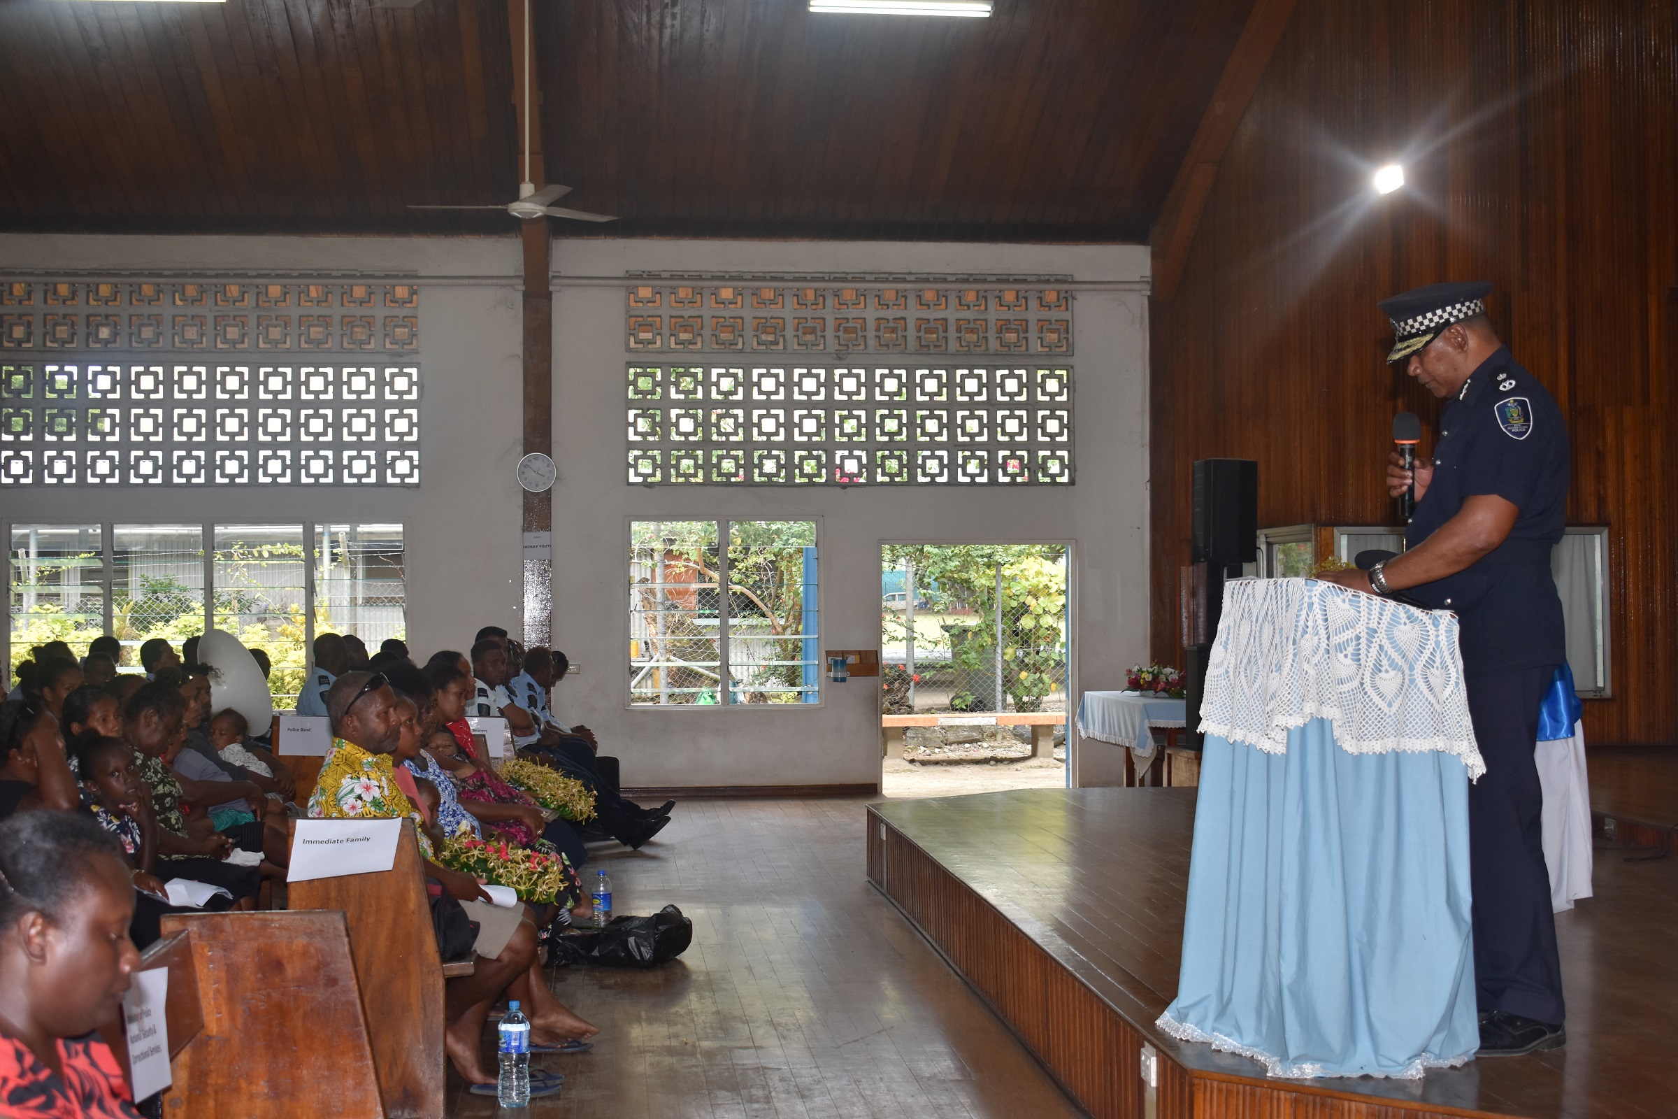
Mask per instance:
[[[413,822],[403,820],[389,871],[290,882],[285,904],[342,911],[384,1109],[443,1119],[443,980],[473,965],[445,971],[438,956]]]

